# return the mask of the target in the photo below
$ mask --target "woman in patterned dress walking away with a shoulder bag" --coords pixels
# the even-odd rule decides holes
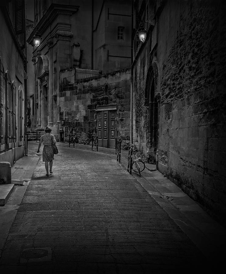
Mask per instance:
[[[56,143],[56,139],[54,135],[50,134],[51,128],[46,127],[45,128],[45,133],[40,137],[39,145],[38,145],[38,150],[37,153],[39,153],[39,149],[41,144],[43,143],[44,148],[42,151],[42,161],[45,162],[45,169],[46,169],[46,176],[49,175],[52,172],[52,166],[53,166],[53,160],[54,160],[54,152],[53,152],[53,143]]]

